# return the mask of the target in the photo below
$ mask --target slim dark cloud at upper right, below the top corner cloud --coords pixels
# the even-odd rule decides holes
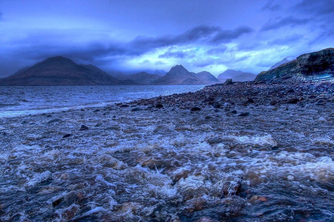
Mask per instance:
[[[269,31],[273,29],[279,29],[284,26],[296,26],[296,25],[304,25],[309,21],[309,19],[300,19],[295,18],[294,16],[288,16],[280,19],[270,19],[267,23],[265,23],[261,31]]]

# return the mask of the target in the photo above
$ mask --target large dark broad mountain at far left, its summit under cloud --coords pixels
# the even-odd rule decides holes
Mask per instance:
[[[0,85],[5,86],[131,84],[137,83],[118,80],[93,65],[81,66],[62,56],[47,58],[0,79]]]

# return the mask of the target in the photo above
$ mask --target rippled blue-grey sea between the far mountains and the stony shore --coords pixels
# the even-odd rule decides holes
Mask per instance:
[[[0,86],[0,117],[101,107],[115,102],[173,93],[194,92],[204,86]]]

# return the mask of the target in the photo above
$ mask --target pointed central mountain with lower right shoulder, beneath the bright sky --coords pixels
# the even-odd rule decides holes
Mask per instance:
[[[209,73],[210,74],[210,73]],[[211,74],[210,74],[211,75]],[[213,76],[214,77],[214,76]],[[215,80],[214,80],[215,79]],[[165,76],[158,79],[154,84],[156,85],[206,85],[217,83],[217,79],[205,73],[189,72],[182,65],[176,65],[166,73]],[[212,82],[211,82],[212,80]]]

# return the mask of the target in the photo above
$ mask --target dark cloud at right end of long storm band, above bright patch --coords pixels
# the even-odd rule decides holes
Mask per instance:
[[[232,30],[220,30],[210,40],[211,43],[230,42],[243,34],[251,33],[254,30],[248,26],[240,26]]]

